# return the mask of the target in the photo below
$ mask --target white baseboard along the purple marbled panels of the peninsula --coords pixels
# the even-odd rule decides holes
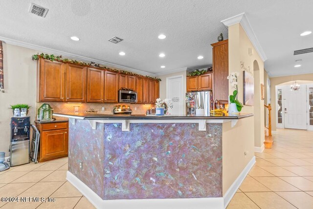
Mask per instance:
[[[223,197],[179,199],[102,200],[71,172],[67,181],[75,186],[97,209],[224,209]],[[131,207],[130,207],[131,206]]]

